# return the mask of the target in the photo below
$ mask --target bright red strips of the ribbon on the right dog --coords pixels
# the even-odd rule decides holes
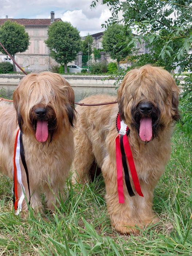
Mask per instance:
[[[118,132],[120,131],[120,115],[118,113],[117,120],[116,120],[116,126]],[[126,129],[128,131],[128,127]],[[122,135],[121,135],[122,136]],[[119,203],[124,203],[124,192],[123,192],[123,168],[122,168],[122,153],[120,150],[120,134],[115,139],[116,144],[116,167],[117,167],[117,186],[118,186],[118,196],[119,196]],[[123,135],[123,147],[124,151],[126,153],[128,165],[130,168],[131,176],[133,179],[133,183],[135,186],[135,190],[137,191],[138,195],[143,196],[143,193],[141,191],[141,187],[139,184],[139,179],[137,176],[137,171],[135,169],[134,159],[131,152],[131,147],[128,141],[127,134]]]

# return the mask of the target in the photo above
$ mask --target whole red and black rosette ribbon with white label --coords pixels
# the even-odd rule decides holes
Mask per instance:
[[[124,192],[123,192],[123,169],[124,169],[124,177],[125,183],[127,187],[127,191],[130,196],[134,196],[133,189],[130,183],[130,176],[128,172],[126,157],[128,161],[128,165],[130,168],[131,176],[133,179],[133,183],[135,186],[135,190],[138,195],[143,196],[141,187],[139,184],[139,179],[137,176],[137,171],[135,169],[135,164],[133,160],[133,155],[131,152],[130,144],[128,141],[128,134],[130,133],[130,129],[126,126],[126,131],[121,131],[121,120],[120,115],[118,113],[116,118],[116,128],[118,130],[118,136],[116,137],[116,165],[117,165],[117,183],[118,183],[118,195],[119,195],[119,203],[124,203]],[[122,134],[121,134],[122,133]],[[123,165],[123,169],[122,169]]]

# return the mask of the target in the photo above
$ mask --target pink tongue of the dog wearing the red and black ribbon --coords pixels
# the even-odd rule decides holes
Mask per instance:
[[[142,141],[150,141],[152,138],[152,119],[144,117],[140,120],[139,136]]]

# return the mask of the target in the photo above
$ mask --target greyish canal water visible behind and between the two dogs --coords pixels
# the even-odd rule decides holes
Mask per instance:
[[[16,85],[0,85],[0,98],[4,98],[5,96],[9,99],[12,99],[12,95],[14,90],[16,89]],[[93,94],[110,94],[116,95],[115,87],[72,87],[75,92],[75,101],[79,102],[80,100],[93,95]]]

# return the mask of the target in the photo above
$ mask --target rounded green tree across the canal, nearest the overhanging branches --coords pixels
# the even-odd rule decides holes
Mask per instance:
[[[112,24],[104,31],[102,45],[113,60],[119,61],[131,54],[131,46],[128,42],[132,40],[130,28],[124,29],[122,24]],[[126,43],[125,43],[126,42]]]

